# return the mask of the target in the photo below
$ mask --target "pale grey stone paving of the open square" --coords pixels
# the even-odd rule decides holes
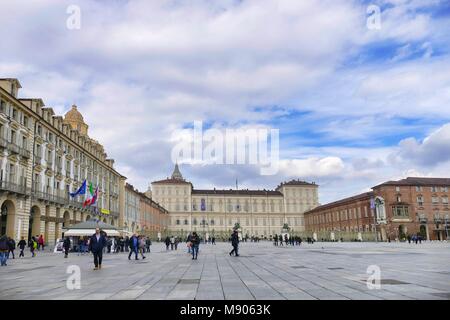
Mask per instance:
[[[184,244],[155,243],[145,260],[105,254],[99,271],[90,255],[27,251],[0,268],[0,299],[450,299],[450,243],[243,243],[238,258],[230,247],[201,245],[193,261]],[[66,287],[69,265],[81,269],[80,290]],[[369,265],[381,268],[381,289],[367,288]]]

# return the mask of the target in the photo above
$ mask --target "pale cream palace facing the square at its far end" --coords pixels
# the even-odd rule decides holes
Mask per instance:
[[[150,191],[148,191],[149,193]],[[195,189],[178,167],[170,178],[151,183],[152,198],[169,211],[169,231],[186,235],[229,236],[239,224],[241,234],[269,237],[304,231],[303,213],[318,205],[318,185],[300,180],[275,190]]]

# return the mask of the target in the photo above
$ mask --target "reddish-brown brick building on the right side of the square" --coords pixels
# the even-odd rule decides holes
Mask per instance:
[[[450,233],[450,179],[409,177],[387,181],[371,192],[319,206],[305,213],[306,230],[318,238],[445,240]],[[353,234],[353,236],[351,236]]]

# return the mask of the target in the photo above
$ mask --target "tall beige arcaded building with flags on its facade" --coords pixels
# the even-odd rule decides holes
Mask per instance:
[[[123,225],[125,177],[77,107],[57,116],[41,99],[19,98],[20,88],[0,79],[0,234],[54,244],[65,226],[90,218]],[[99,188],[97,209],[69,196],[85,179]]]

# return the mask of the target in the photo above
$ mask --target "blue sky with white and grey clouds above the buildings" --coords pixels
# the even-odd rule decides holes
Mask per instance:
[[[0,0],[0,16],[0,77],[57,114],[76,103],[141,190],[194,121],[280,132],[276,175],[183,164],[196,188],[300,178],[326,203],[450,176],[450,0]]]

